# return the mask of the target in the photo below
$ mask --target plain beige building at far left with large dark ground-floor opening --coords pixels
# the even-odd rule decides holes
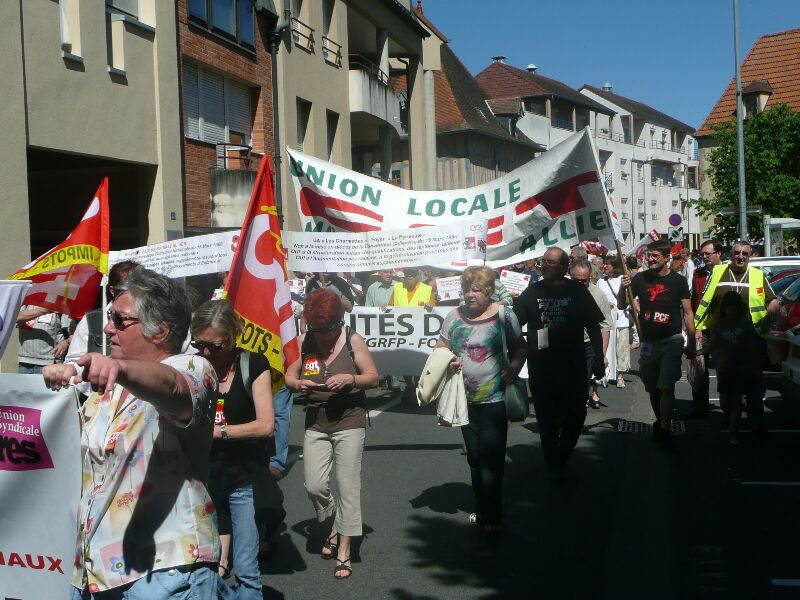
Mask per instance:
[[[112,248],[180,234],[175,38],[160,0],[0,2],[3,273],[61,243],[105,176]]]

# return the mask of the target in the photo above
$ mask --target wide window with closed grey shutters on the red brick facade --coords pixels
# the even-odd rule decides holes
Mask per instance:
[[[250,88],[192,63],[183,65],[183,127],[188,138],[249,146]]]

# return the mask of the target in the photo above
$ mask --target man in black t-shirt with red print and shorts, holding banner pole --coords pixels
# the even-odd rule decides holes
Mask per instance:
[[[671,444],[670,421],[675,400],[675,382],[681,378],[683,334],[681,317],[690,342],[694,341],[694,312],[686,278],[669,268],[670,244],[658,240],[647,245],[647,270],[641,270],[631,281],[622,276],[617,294],[617,306],[628,305],[627,289],[638,298],[639,322],[639,374],[650,394],[656,422],[653,439],[668,447]]]

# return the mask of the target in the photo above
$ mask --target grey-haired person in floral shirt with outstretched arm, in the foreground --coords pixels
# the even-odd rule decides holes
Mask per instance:
[[[110,356],[90,352],[77,367],[43,372],[52,389],[88,381],[95,391],[83,409],[83,481],[94,483],[78,510],[72,598],[166,599],[186,590],[214,598],[220,545],[205,479],[217,376],[204,358],[180,354],[186,292],[136,267],[108,317]]]

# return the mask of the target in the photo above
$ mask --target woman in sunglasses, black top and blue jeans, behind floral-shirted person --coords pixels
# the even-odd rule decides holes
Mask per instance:
[[[220,575],[230,573],[232,535],[236,579],[233,588],[220,581],[220,597],[260,600],[256,506],[265,500],[266,438],[272,436],[275,411],[267,359],[261,354],[240,354],[236,348],[240,330],[239,319],[226,300],[209,300],[192,316],[192,346],[219,378],[208,488],[219,520]]]

